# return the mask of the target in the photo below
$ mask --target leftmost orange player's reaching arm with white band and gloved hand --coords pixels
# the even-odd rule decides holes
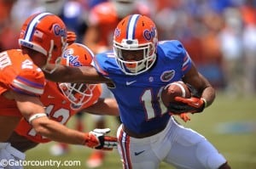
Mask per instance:
[[[67,128],[47,117],[38,97],[19,93],[14,93],[14,95],[21,114],[38,134],[46,138],[66,144],[86,145],[92,149],[111,150],[117,146],[117,138],[105,136],[110,132],[109,129],[96,134],[94,131],[84,133]]]

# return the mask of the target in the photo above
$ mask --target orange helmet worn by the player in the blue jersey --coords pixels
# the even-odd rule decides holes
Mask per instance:
[[[156,59],[157,42],[157,30],[152,20],[141,14],[126,16],[117,25],[113,36],[113,53],[119,68],[127,75],[148,70]]]

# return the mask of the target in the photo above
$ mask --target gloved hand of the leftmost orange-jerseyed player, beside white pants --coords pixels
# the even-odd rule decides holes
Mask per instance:
[[[112,150],[117,148],[118,139],[111,136],[105,136],[110,132],[109,128],[99,129],[85,133],[85,145],[92,149]]]

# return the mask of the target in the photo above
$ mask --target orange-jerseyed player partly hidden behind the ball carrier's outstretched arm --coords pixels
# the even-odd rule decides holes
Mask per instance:
[[[62,54],[61,64],[90,66],[92,58],[93,54],[89,48],[80,43],[73,43]],[[63,125],[66,125],[70,117],[81,110],[95,114],[103,111],[105,115],[119,115],[115,99],[98,100],[101,92],[101,85],[99,84],[71,84],[47,81],[40,100],[45,106],[48,118]],[[102,106],[104,110],[102,110]],[[26,119],[21,119],[19,125],[15,128],[15,132],[9,138],[9,143],[22,152],[32,149],[40,143],[49,143],[49,141],[51,139],[37,133]]]

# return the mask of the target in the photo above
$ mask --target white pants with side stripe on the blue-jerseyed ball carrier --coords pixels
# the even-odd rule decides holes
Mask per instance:
[[[163,131],[147,138],[131,138],[120,125],[117,138],[122,139],[119,155],[125,169],[157,169],[161,161],[177,169],[217,169],[226,162],[206,138],[173,117]]]

